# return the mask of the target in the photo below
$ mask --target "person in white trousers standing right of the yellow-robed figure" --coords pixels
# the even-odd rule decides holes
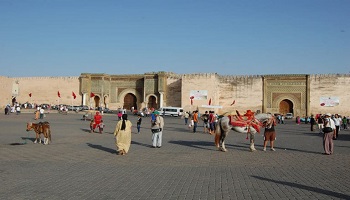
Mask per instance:
[[[163,136],[163,127],[164,127],[164,119],[159,116],[159,112],[156,110],[153,112],[154,118],[152,117],[152,147],[160,148],[162,146],[162,136]]]

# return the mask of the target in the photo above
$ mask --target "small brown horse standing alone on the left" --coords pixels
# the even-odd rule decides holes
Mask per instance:
[[[39,122],[39,123],[27,123],[27,129],[26,131],[34,130],[35,131],[35,141],[34,143],[37,143],[39,140],[39,143],[41,143],[41,137],[40,134],[44,135],[44,144],[51,143],[51,130],[50,130],[50,123],[49,122]]]

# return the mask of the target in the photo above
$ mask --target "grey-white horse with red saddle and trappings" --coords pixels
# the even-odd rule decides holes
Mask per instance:
[[[223,116],[218,120],[215,129],[215,146],[221,151],[227,151],[225,138],[232,129],[239,133],[246,133],[247,139],[249,135],[250,151],[256,151],[254,146],[255,133],[260,133],[260,128],[269,126],[274,116],[270,113],[254,114],[250,110],[247,110],[245,115],[241,115],[238,111],[236,113],[237,115]]]

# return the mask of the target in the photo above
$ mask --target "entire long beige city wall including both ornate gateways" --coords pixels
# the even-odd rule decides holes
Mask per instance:
[[[19,103],[89,105],[91,100],[94,101],[94,98],[90,98],[90,92],[93,92],[111,109],[125,106],[127,101],[129,105],[135,103],[138,108],[176,106],[186,111],[214,110],[220,114],[248,109],[272,113],[293,112],[300,116],[326,112],[349,115],[350,112],[350,93],[347,92],[349,74],[223,76],[216,73],[160,72],[93,74],[88,79],[84,79],[84,76],[90,75],[0,76],[1,107],[11,103],[13,98]],[[88,90],[85,91],[85,88]],[[76,99],[73,99],[72,92]],[[196,92],[203,94],[193,99],[191,105],[190,96]],[[208,106],[209,101],[211,107]]]

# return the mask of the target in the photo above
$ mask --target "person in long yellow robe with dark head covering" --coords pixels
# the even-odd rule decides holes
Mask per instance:
[[[118,155],[125,155],[129,152],[131,145],[131,126],[128,115],[123,114],[114,130]]]

